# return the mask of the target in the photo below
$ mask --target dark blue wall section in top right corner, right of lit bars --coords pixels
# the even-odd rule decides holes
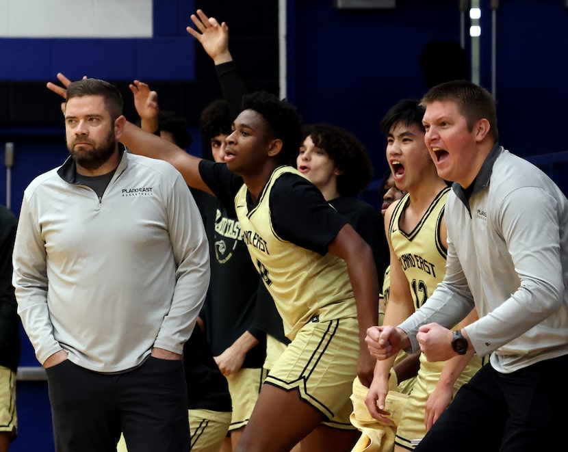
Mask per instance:
[[[568,8],[564,1],[501,1],[497,27],[501,141],[523,155],[568,150]],[[487,81],[489,85],[489,81]]]

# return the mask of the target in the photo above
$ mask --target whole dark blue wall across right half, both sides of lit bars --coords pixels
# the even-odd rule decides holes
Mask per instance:
[[[290,98],[306,122],[353,131],[386,169],[378,122],[426,83],[419,56],[432,40],[460,40],[458,1],[399,0],[395,10],[335,10],[331,0],[289,2]],[[491,90],[491,9],[482,0],[481,84]],[[568,150],[568,9],[562,0],[501,1],[497,10],[498,127],[524,157]],[[469,28],[469,19],[466,21]],[[468,38],[469,39],[469,38]],[[469,51],[469,43],[466,43]]]

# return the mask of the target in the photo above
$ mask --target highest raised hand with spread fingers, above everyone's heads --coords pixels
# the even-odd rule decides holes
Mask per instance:
[[[203,49],[216,65],[232,61],[227,24],[219,24],[216,18],[207,17],[202,10],[197,10],[196,13],[197,15],[190,16],[196,29],[187,27],[188,33],[201,42]]]

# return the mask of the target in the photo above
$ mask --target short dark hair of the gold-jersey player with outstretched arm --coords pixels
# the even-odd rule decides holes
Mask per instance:
[[[292,163],[302,143],[302,120],[296,107],[274,94],[257,91],[243,96],[242,110],[256,111],[266,120],[274,138],[282,140],[279,160]]]

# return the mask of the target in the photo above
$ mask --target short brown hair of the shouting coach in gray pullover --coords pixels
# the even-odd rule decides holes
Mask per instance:
[[[470,132],[473,130],[474,122],[487,119],[489,121],[489,136],[493,137],[495,142],[499,141],[495,99],[485,88],[465,80],[446,81],[446,83],[430,88],[424,94],[420,105],[427,107],[436,101],[456,103],[458,111],[464,116],[467,129]]]

